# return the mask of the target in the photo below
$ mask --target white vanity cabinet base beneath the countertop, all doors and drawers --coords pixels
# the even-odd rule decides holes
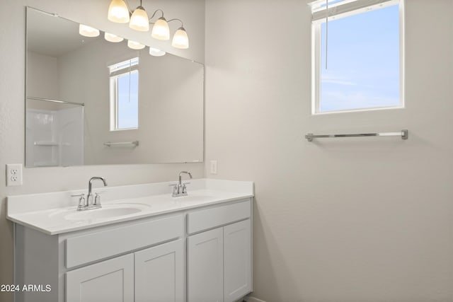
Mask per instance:
[[[16,226],[17,302],[233,302],[251,292],[251,199],[50,236]]]

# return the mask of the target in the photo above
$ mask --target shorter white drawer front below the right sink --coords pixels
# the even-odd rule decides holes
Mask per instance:
[[[197,233],[208,228],[248,219],[251,216],[251,200],[213,207],[187,214],[187,233]]]

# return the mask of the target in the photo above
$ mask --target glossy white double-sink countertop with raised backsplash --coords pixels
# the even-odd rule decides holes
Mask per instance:
[[[79,199],[71,197],[71,194],[86,193],[86,190],[9,196],[7,219],[48,235],[56,235],[253,197],[253,182],[191,180],[187,186],[188,196],[171,197],[171,184],[174,183],[159,182],[93,189],[93,192],[103,192],[103,209],[129,206],[133,207],[132,210],[137,209],[131,214],[95,219],[89,216],[94,211],[103,209],[90,209],[79,215],[82,213],[76,211]],[[85,213],[88,215],[84,216]]]

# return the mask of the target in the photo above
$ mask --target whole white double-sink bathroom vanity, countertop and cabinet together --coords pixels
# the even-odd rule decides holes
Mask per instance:
[[[16,301],[224,301],[252,290],[253,182],[192,180],[103,187],[102,209],[76,211],[84,190],[8,197]],[[93,189],[96,192],[96,189]],[[50,289],[50,290],[49,290]]]

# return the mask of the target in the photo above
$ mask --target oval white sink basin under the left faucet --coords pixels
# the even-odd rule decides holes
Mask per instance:
[[[100,209],[88,209],[84,211],[77,211],[74,208],[65,209],[64,211],[50,214],[50,218],[60,218],[68,221],[110,219],[114,217],[136,214],[145,211],[150,207],[151,206],[149,206],[148,204],[103,204],[102,208]]]

